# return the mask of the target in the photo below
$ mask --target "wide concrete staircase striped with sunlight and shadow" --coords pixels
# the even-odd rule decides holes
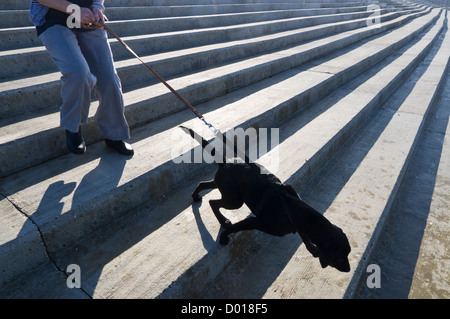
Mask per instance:
[[[115,39],[135,155],[106,148],[95,97],[83,126],[88,151],[68,154],[60,75],[28,4],[0,4],[1,297],[450,296],[445,9],[423,1],[106,2],[110,27],[215,127],[279,129],[279,145],[258,162],[346,232],[352,270],[340,273],[322,269],[298,235],[247,231],[219,245],[208,200],[220,194],[200,204],[190,197],[215,165],[177,163],[199,150],[179,125],[207,139],[212,132]],[[224,213],[235,222],[249,210]],[[66,285],[73,264],[81,288]],[[367,288],[369,264],[380,266],[381,288]]]

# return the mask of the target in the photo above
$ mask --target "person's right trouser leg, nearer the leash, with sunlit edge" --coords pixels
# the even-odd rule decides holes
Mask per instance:
[[[91,72],[97,78],[96,93],[99,107],[95,120],[108,140],[122,141],[130,138],[124,115],[122,86],[114,67],[111,48],[105,30],[76,32],[81,51]]]

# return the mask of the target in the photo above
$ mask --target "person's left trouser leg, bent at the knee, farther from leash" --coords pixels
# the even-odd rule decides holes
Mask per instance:
[[[69,28],[55,25],[42,33],[40,39],[62,73],[61,126],[76,133],[80,124],[87,120],[91,91],[97,79],[90,71],[77,37]]]

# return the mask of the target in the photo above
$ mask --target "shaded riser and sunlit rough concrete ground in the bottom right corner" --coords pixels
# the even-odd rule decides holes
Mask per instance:
[[[449,77],[447,69],[446,82],[429,111],[418,151],[413,154],[386,226],[367,261],[380,266],[382,289],[369,289],[360,283],[356,298],[448,299],[450,296],[447,279],[450,269]],[[409,89],[414,85],[415,82],[409,81]]]

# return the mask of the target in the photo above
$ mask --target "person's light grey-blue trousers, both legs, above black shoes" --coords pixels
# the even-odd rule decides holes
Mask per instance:
[[[110,140],[130,138],[122,86],[105,30],[77,31],[55,25],[39,38],[62,73],[61,126],[76,133],[86,123],[95,89],[99,106],[94,119]]]

